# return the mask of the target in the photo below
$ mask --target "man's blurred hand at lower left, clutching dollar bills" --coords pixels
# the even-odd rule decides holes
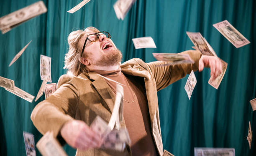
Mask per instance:
[[[99,148],[103,139],[83,121],[72,120],[64,124],[61,136],[73,148],[87,150]]]

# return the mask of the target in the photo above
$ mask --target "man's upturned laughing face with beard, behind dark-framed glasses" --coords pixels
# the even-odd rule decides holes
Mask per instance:
[[[94,31],[87,31],[82,37],[82,46],[89,34],[94,34]],[[117,65],[122,59],[122,53],[115,47],[114,42],[107,38],[105,35],[99,35],[99,39],[96,42],[87,40],[84,47],[84,54],[90,65],[96,66],[112,66]]]

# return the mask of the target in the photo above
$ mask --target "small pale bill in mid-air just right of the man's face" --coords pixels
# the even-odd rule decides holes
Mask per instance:
[[[132,40],[135,49],[156,48],[155,42],[152,37],[139,37],[133,38]]]

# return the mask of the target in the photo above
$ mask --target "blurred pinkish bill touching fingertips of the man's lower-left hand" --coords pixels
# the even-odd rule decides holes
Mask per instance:
[[[99,134],[101,138],[105,138],[111,131],[108,123],[104,121],[100,116],[96,116],[96,118],[92,121],[90,128],[92,131]]]

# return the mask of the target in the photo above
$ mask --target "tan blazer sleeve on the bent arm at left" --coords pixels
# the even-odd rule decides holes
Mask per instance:
[[[56,92],[36,105],[31,120],[41,134],[52,131],[56,137],[64,123],[74,119],[78,102],[79,92],[74,78],[62,75]]]

